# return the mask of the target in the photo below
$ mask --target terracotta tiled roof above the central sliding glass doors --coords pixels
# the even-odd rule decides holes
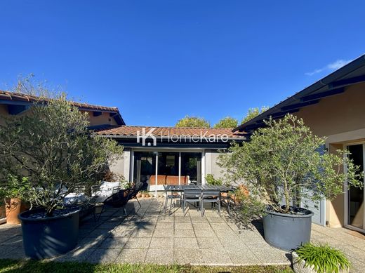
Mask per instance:
[[[233,133],[233,128],[177,128],[177,127],[153,127],[153,126],[117,126],[113,128],[101,128],[95,131],[98,135],[110,136],[131,136],[137,135],[137,131],[142,134],[142,128],[145,128],[145,133],[148,133],[152,128],[153,135],[161,137],[168,135],[228,135],[229,138],[245,138],[245,133]]]

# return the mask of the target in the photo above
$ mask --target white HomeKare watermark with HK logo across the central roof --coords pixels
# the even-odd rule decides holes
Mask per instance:
[[[156,130],[155,127],[150,128],[150,131],[146,133],[146,128],[142,128],[141,131],[137,131],[137,143],[141,142],[142,139],[142,146],[146,146],[147,138],[151,138],[153,140],[153,146],[157,146],[157,138],[160,139],[161,142],[227,142],[229,140],[229,136],[225,133],[223,134],[208,134],[208,131],[200,131],[200,133],[195,133],[193,135],[177,135],[177,134],[170,134],[163,135],[162,133],[159,135],[154,135],[153,132]],[[147,142],[147,146],[151,146],[151,142]]]

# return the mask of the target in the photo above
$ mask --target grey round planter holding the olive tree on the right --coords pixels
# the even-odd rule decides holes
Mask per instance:
[[[298,208],[303,215],[268,212],[263,217],[265,241],[286,251],[310,241],[314,213]]]

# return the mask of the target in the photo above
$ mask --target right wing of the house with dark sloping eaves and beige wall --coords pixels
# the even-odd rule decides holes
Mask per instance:
[[[265,126],[269,116],[279,119],[293,113],[312,132],[326,136],[326,150],[351,152],[350,158],[364,170],[365,160],[365,55],[353,60],[311,86],[279,102],[266,112],[234,129],[252,133]],[[330,227],[349,227],[365,232],[364,188],[347,190],[333,201],[323,200],[319,208],[311,204],[314,222]]]

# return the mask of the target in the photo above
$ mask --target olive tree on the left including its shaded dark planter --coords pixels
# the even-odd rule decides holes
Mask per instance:
[[[77,244],[79,210],[65,206],[69,193],[87,192],[107,164],[121,157],[114,140],[91,135],[88,114],[65,95],[34,103],[28,114],[0,126],[0,179],[25,176],[22,194],[31,210],[20,214],[25,254],[50,258]]]

